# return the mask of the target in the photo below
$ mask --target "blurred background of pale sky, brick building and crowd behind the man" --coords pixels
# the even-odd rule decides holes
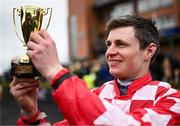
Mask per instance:
[[[13,125],[19,109],[9,94],[10,62],[25,53],[13,31],[12,9],[23,5],[52,7],[49,33],[54,38],[61,62],[87,82],[89,89],[113,79],[104,59],[104,27],[110,18],[139,14],[156,21],[160,50],[151,66],[153,79],[167,81],[180,89],[180,1],[179,0],[0,0],[0,124]],[[46,22],[46,20],[44,21]],[[62,120],[48,82],[39,93],[41,110],[53,123]],[[48,108],[48,109],[47,109]]]

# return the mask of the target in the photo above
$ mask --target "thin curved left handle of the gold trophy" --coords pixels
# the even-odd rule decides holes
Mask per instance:
[[[14,31],[15,31],[15,33],[16,33],[16,35],[17,35],[17,37],[18,37],[18,38],[21,40],[21,42],[23,43],[23,46],[26,46],[26,43],[23,41],[23,39],[21,39],[21,37],[19,36],[19,34],[17,33],[17,30],[16,30],[15,11],[17,11],[18,16],[20,16],[20,15],[21,15],[21,12],[20,12],[20,10],[19,10],[19,9],[17,9],[17,8],[13,8]]]

